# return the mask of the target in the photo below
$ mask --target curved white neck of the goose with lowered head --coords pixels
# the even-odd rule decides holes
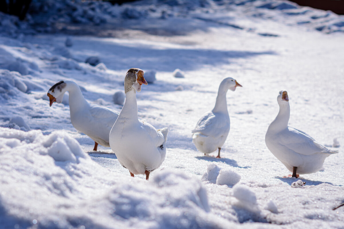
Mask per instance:
[[[69,110],[71,112],[89,105],[85,100],[83,93],[81,93],[79,86],[75,82],[69,81],[65,90],[69,92]]]

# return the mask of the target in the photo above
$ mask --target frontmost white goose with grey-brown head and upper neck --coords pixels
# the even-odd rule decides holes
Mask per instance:
[[[155,129],[149,123],[138,119],[136,91],[148,83],[143,71],[138,68],[128,70],[124,89],[126,101],[110,131],[110,147],[119,163],[127,168],[131,176],[146,174],[160,167],[165,159],[168,128]]]

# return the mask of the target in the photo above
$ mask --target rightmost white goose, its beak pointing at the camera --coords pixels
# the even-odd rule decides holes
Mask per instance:
[[[288,126],[290,106],[287,91],[279,92],[277,102],[280,110],[266,132],[266,146],[293,173],[292,177],[319,171],[325,158],[338,151],[327,149],[308,134]]]

